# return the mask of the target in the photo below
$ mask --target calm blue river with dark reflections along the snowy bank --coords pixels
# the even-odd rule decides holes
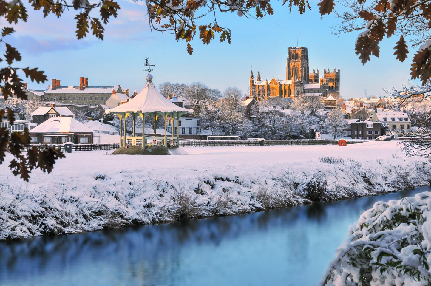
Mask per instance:
[[[428,190],[0,242],[0,285],[316,285],[365,209]]]

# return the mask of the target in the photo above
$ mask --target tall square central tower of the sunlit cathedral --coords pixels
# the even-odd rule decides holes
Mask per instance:
[[[289,47],[287,50],[286,79],[293,82],[309,82],[308,50],[305,47]]]

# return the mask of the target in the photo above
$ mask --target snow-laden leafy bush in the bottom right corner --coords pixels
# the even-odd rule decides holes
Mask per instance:
[[[431,193],[376,202],[336,253],[321,285],[430,285]]]

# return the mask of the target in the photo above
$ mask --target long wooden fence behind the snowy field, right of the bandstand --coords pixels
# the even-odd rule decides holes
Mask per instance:
[[[347,144],[367,142],[366,140],[347,140]],[[272,145],[326,145],[338,144],[338,140],[264,140],[265,146]],[[190,140],[180,141],[180,146],[259,146],[259,140]]]

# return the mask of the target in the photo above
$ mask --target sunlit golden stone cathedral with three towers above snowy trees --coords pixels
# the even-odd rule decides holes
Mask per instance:
[[[289,47],[287,51],[286,80],[272,78],[262,81],[260,71],[254,81],[253,68],[250,75],[250,98],[264,100],[269,97],[290,97],[305,93],[310,96],[326,97],[330,93],[334,98],[340,97],[340,69],[331,72],[326,68],[323,77],[319,78],[319,69],[309,72],[308,50],[305,47]]]

